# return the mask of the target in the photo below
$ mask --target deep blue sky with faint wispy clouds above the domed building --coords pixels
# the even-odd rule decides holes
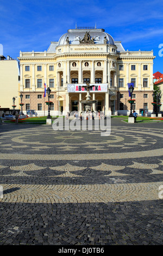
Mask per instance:
[[[153,72],[163,73],[163,54],[159,54],[163,49],[162,0],[0,0],[0,10],[5,57],[15,59],[20,51],[45,51],[51,41],[75,28],[76,22],[77,26],[97,24],[115,41],[122,41],[125,50],[153,50]]]

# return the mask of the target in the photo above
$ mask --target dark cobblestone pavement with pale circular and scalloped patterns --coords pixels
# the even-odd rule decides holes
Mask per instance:
[[[0,245],[163,244],[162,123],[0,129]]]

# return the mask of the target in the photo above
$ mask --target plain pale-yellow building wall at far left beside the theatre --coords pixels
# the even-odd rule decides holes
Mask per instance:
[[[18,81],[20,80],[20,68],[17,60],[12,59],[10,56],[5,58],[2,54],[0,55],[0,116],[2,113],[12,113],[13,101],[15,97],[15,110],[19,110],[18,105],[19,92],[18,92]]]

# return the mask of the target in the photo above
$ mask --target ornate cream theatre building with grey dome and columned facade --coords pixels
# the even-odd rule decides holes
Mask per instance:
[[[35,110],[46,115],[51,89],[51,115],[85,111],[89,83],[93,111],[105,114],[129,114],[128,83],[134,84],[133,109],[152,112],[153,51],[126,51],[121,41],[97,28],[69,29],[58,42],[51,42],[44,52],[20,52],[20,93],[23,112]]]

